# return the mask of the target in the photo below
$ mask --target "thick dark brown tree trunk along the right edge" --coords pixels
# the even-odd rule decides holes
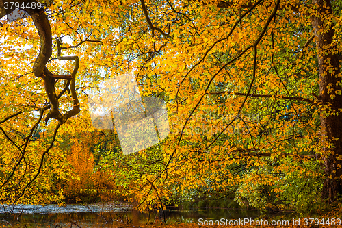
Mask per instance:
[[[332,28],[331,16],[332,8],[329,0],[313,0],[318,8],[318,14],[311,17],[315,32],[316,47],[318,53],[319,67],[319,98],[323,105],[330,104],[330,112],[338,112],[342,108],[342,96],[335,91],[342,90],[339,68],[339,53],[336,52],[334,45],[334,29]],[[333,99],[330,97],[334,95]],[[322,197],[334,201],[337,194],[342,194],[341,175],[342,175],[342,114],[326,116],[321,112],[322,138],[326,142],[333,142],[334,147],[331,154],[322,157],[324,168],[324,189]],[[338,138],[338,139],[337,139]],[[334,140],[337,139],[337,140]],[[330,149],[324,147],[323,151]]]

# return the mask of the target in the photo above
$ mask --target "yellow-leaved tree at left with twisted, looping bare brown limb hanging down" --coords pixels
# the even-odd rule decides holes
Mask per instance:
[[[7,1],[0,2],[1,18],[14,11],[15,5],[8,5],[9,3]],[[50,157],[47,157],[47,155],[49,152],[51,153],[51,148],[57,138],[57,131],[60,125],[79,112],[79,101],[75,92],[75,77],[79,68],[79,60],[77,56],[61,56],[61,51],[64,47],[61,47],[60,40],[57,40],[57,59],[73,60],[75,61],[75,66],[73,71],[71,71],[72,73],[68,75],[51,73],[47,68],[47,62],[52,54],[52,36],[49,19],[44,13],[43,6],[45,4],[38,4],[36,1],[18,1],[17,3],[20,3],[31,16],[34,27],[38,31],[38,36],[36,36],[35,31],[32,29],[33,27],[30,28],[27,21],[13,27],[14,30],[18,29],[18,33],[12,30],[11,27],[8,27],[9,24],[3,25],[1,23],[2,39],[4,40],[1,51],[5,54],[1,62],[3,74],[1,88],[4,95],[1,102],[1,116],[3,117],[1,121],[3,125],[1,127],[1,140],[3,140],[1,157],[5,167],[2,170],[3,175],[0,186],[1,201],[19,203],[27,202],[28,200],[47,203],[51,200],[56,201],[57,198],[51,199],[45,196],[43,192],[51,192],[53,190],[51,179],[56,175],[55,171],[57,171],[58,175],[61,172],[60,169],[63,170],[63,167],[51,166],[52,170],[47,167],[44,170],[43,167],[44,163],[48,163],[51,159],[54,160],[51,164],[64,160],[64,157],[58,158],[62,156],[60,153],[53,153],[57,157],[52,154]],[[25,31],[23,27],[27,27],[29,30]],[[13,35],[19,39],[14,46],[11,41]],[[21,49],[21,45],[27,45],[27,42],[21,40],[21,38],[27,38],[25,36],[31,37],[31,40],[34,40],[29,45],[34,47],[40,45],[37,55],[35,55],[37,50],[28,50],[26,53],[25,51],[15,54],[11,53],[12,51],[15,52],[16,48]],[[36,38],[33,38],[34,36],[38,38],[39,42]],[[31,71],[21,72],[21,68],[26,68],[25,64],[30,61],[25,58],[25,55],[28,53],[32,55],[31,58],[34,58],[35,55],[36,59],[31,59],[31,62],[33,62]],[[13,61],[16,58],[23,58],[23,62],[15,64]],[[32,75],[36,78],[32,78]],[[42,87],[36,87],[35,85],[38,84],[38,78],[43,81]],[[58,84],[58,80],[64,80],[64,85]],[[17,83],[14,83],[14,81]],[[17,90],[14,90],[14,88],[17,88]],[[44,92],[42,92],[43,88]],[[58,91],[57,89],[60,88],[62,89]],[[60,100],[62,100],[61,97],[67,91],[71,94],[73,107],[69,111],[62,113],[60,110]],[[42,94],[46,96],[42,96]],[[24,97],[26,99],[23,99]],[[47,99],[44,100],[44,98]],[[12,103],[12,101],[14,102]],[[39,113],[38,115],[37,112]],[[42,121],[43,116],[45,117],[44,122]],[[51,129],[51,125],[47,125],[50,119],[58,121],[54,130]],[[44,125],[44,128],[47,127],[47,132],[44,132],[44,136],[40,140],[35,140],[34,135],[38,130],[38,126],[42,125]],[[55,158],[53,159],[53,157]],[[41,173],[44,173],[42,175],[43,179],[38,178]],[[67,170],[62,174],[62,177],[66,177],[65,175],[68,176]],[[43,197],[40,197],[41,194]]]

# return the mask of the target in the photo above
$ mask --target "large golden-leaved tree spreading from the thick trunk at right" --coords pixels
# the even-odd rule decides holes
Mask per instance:
[[[9,14],[1,4],[1,16]],[[39,123],[49,110],[45,120],[57,120],[57,132],[60,125],[75,127],[67,120],[83,103],[79,115],[90,123],[86,88],[133,72],[143,97],[167,101],[170,123],[168,138],[150,149],[160,155],[148,158],[150,150],[140,151],[135,168],[127,168],[129,175],[150,167],[133,181],[142,208],[153,201],[162,206],[172,191],[194,188],[225,192],[237,187],[236,194],[246,197],[246,188],[267,186],[267,193],[281,198],[305,180],[306,188],[321,188],[322,199],[332,202],[341,194],[339,1],[53,1],[45,7],[49,10],[26,10],[29,18],[1,22],[2,36],[8,38],[1,47],[8,57],[1,68],[6,94],[1,124],[8,124],[8,131],[14,118],[24,124],[17,117],[24,112],[19,107],[31,108],[25,118],[28,111],[40,110]],[[30,20],[36,28],[24,33],[21,23]],[[73,43],[62,44],[62,36]],[[14,47],[27,40],[34,48],[16,53]],[[73,57],[63,58],[62,50]],[[21,73],[16,59],[34,62],[32,73]],[[55,59],[74,60],[75,67],[64,66],[73,73],[62,73]],[[60,73],[51,73],[50,66]],[[8,83],[10,72],[15,75]],[[16,86],[23,78],[23,94],[39,92],[32,95],[34,108],[27,105],[31,97],[25,95],[24,102],[13,95],[21,91]],[[37,79],[44,81],[44,92],[42,83],[32,83]],[[57,82],[62,79],[63,85]],[[69,106],[71,111],[62,111]],[[12,137],[30,142],[27,134],[18,138],[2,132],[12,147],[17,145]],[[19,161],[13,164],[18,166],[12,166],[3,186],[23,164],[25,151],[16,150]]]

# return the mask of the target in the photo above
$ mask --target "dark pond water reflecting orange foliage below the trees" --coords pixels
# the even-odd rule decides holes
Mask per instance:
[[[12,210],[12,211],[11,211]],[[7,212],[7,213],[5,213]],[[0,227],[118,227],[161,223],[163,213],[141,213],[123,205],[18,205],[0,209]],[[256,210],[210,209],[166,210],[166,223],[198,222],[205,220],[257,218]]]

